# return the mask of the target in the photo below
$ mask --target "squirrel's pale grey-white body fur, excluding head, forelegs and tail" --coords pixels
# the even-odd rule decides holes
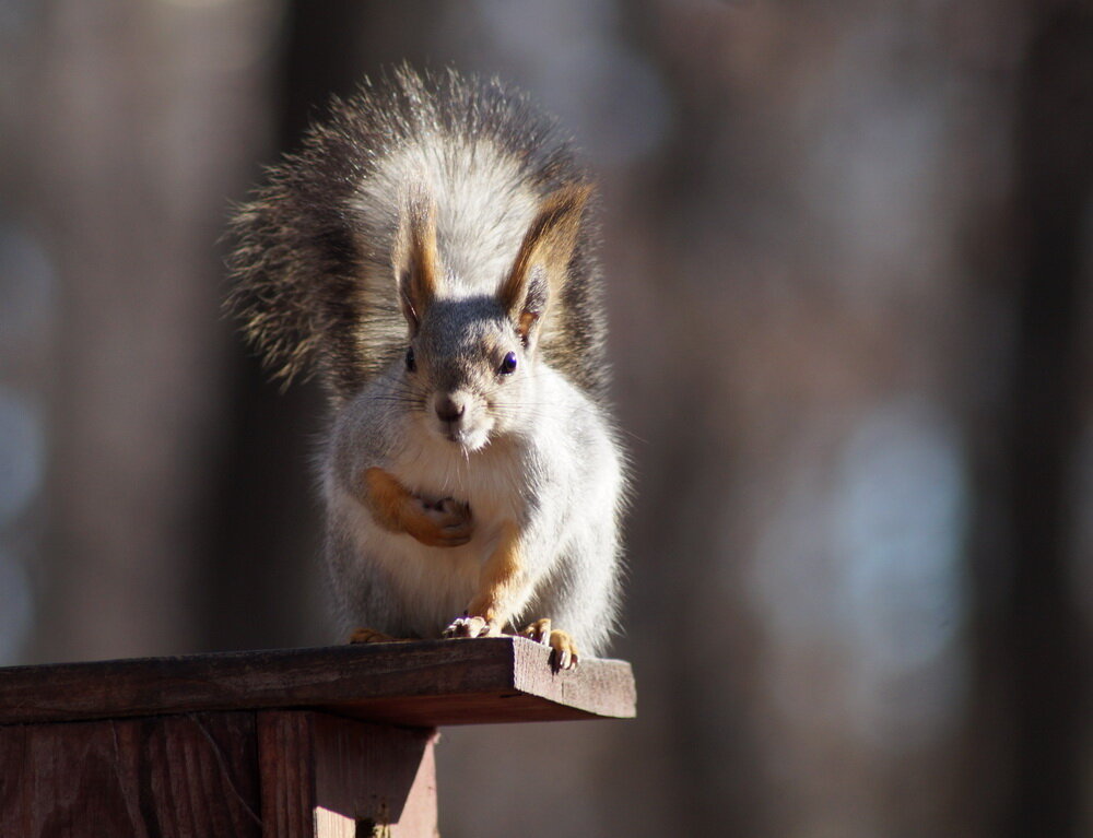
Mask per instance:
[[[526,383],[526,400],[495,409],[506,429],[474,452],[415,427],[427,421],[425,409],[403,394],[395,369],[346,405],[326,475],[327,555],[346,625],[438,636],[478,590],[504,522],[517,521],[527,585],[509,605],[510,623],[550,616],[583,651],[602,650],[618,593],[618,450],[599,409],[556,373],[540,366]],[[472,540],[427,547],[379,528],[356,499],[363,464],[381,465],[426,497],[468,501]]]

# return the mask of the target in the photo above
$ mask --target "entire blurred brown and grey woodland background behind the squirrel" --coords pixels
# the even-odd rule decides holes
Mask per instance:
[[[0,663],[333,639],[314,387],[224,296],[330,93],[602,176],[639,719],[445,731],[444,835],[1093,835],[1093,8],[0,0]]]

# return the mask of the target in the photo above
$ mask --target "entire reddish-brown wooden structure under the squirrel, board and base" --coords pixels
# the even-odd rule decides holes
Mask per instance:
[[[628,718],[622,661],[522,638],[0,670],[0,836],[437,834],[440,724]]]

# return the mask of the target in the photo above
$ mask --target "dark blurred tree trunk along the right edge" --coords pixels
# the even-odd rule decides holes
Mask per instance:
[[[1012,227],[998,236],[1013,318],[1002,434],[982,453],[972,796],[984,834],[1085,834],[1090,649],[1073,594],[1073,481],[1083,422],[1081,333],[1093,185],[1093,10],[1030,3],[1014,113]],[[999,523],[989,520],[997,516]],[[998,764],[1001,758],[1001,765]]]

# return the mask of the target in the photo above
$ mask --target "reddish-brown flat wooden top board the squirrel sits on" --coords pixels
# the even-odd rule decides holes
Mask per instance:
[[[630,664],[553,672],[524,638],[427,640],[0,670],[0,724],[317,708],[416,727],[634,716]]]

